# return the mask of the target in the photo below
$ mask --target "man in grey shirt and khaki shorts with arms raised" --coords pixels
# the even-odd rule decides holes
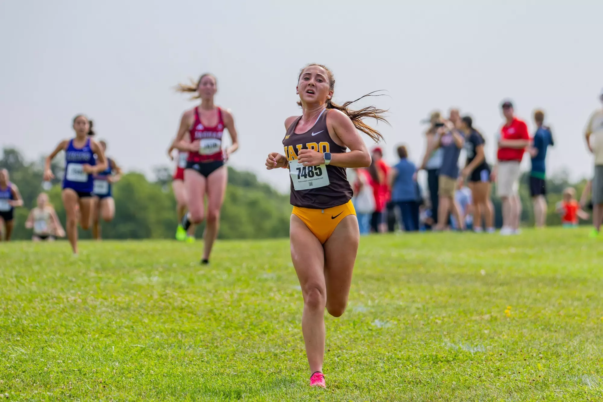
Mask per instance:
[[[455,110],[456,109],[450,110],[451,118],[455,115],[453,113]],[[456,115],[458,116],[458,111],[456,111]],[[464,230],[465,223],[464,220],[461,219],[460,209],[458,203],[456,203],[455,190],[456,180],[458,180],[459,175],[458,158],[461,155],[465,137],[459,132],[452,121],[441,121],[437,124],[437,127],[436,141],[434,141],[432,146],[428,149],[428,152],[425,153],[425,158],[423,158],[423,164],[421,165],[421,169],[425,169],[428,156],[437,148],[443,150],[442,165],[440,167],[438,182],[438,194],[440,197],[438,206],[438,224],[435,226],[435,230],[441,231],[446,228],[448,215],[451,212],[454,214],[456,222],[459,222],[461,230]]]

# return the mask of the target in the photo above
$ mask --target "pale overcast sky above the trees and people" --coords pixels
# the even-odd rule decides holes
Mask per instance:
[[[549,171],[577,178],[592,172],[582,132],[601,106],[602,15],[596,0],[0,1],[0,145],[48,154],[83,112],[110,157],[150,174],[194,106],[173,86],[209,71],[239,131],[230,163],[284,190],[286,172],[264,161],[299,113],[299,69],[318,62],[336,101],[388,91],[373,99],[390,109],[391,127],[378,126],[388,161],[400,143],[417,161],[420,120],[450,106],[473,116],[492,161],[508,97],[531,130],[532,110],[546,111]]]

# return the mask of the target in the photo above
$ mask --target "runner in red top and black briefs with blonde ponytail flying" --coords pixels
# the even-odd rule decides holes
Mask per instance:
[[[199,106],[183,113],[172,147],[188,152],[184,178],[189,211],[182,219],[182,226],[188,230],[192,224],[198,225],[206,219],[201,263],[207,264],[218,235],[219,214],[228,179],[224,161],[239,147],[238,135],[232,113],[213,103],[217,85],[212,74],[201,75],[193,85],[180,84],[177,91],[194,92],[197,95],[193,99],[201,99]],[[224,129],[232,140],[232,145],[225,150],[222,148]],[[190,142],[183,141],[187,133]]]

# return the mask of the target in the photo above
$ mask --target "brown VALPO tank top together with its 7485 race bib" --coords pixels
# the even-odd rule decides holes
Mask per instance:
[[[347,181],[346,168],[332,165],[305,167],[297,163],[297,153],[302,149],[321,153],[346,152],[347,148],[336,144],[329,135],[328,113],[328,109],[323,110],[314,126],[305,133],[295,133],[295,127],[301,116],[287,129],[283,146],[285,156],[289,160],[291,205],[325,209],[343,205],[352,199],[352,187]]]

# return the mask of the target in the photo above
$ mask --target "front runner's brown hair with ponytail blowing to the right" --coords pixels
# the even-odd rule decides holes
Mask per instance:
[[[300,80],[301,74],[309,66],[318,66],[318,67],[325,69],[325,71],[327,72],[327,75],[329,75],[329,77],[328,77],[329,78],[329,89],[330,89],[330,91],[334,92],[335,91],[335,77],[333,77],[333,72],[330,71],[330,69],[328,69],[326,66],[323,66],[318,63],[310,63],[309,65],[302,68],[300,70],[299,76],[297,77],[297,80],[298,81]],[[372,138],[374,142],[379,142],[380,139],[384,139],[383,136],[381,135],[381,133],[378,132],[377,130],[373,129],[373,127],[368,126],[368,124],[365,124],[364,121],[362,121],[362,119],[374,118],[374,120],[383,121],[384,123],[390,124],[383,116],[385,113],[387,113],[387,110],[377,109],[377,107],[374,107],[374,106],[363,107],[362,109],[359,109],[359,110],[352,110],[352,109],[348,108],[348,106],[350,106],[350,104],[355,103],[355,102],[361,100],[362,98],[380,96],[380,95],[373,95],[375,92],[377,92],[377,91],[370,92],[370,94],[363,95],[356,100],[347,101],[346,103],[342,104],[341,106],[334,103],[332,100],[327,99],[327,109],[337,109],[337,110],[339,110],[339,112],[345,113],[350,118],[350,120],[352,120],[352,123],[354,124],[354,127],[356,127],[357,130],[370,136],[370,138]],[[298,101],[297,104],[299,106],[301,106],[301,101]]]

